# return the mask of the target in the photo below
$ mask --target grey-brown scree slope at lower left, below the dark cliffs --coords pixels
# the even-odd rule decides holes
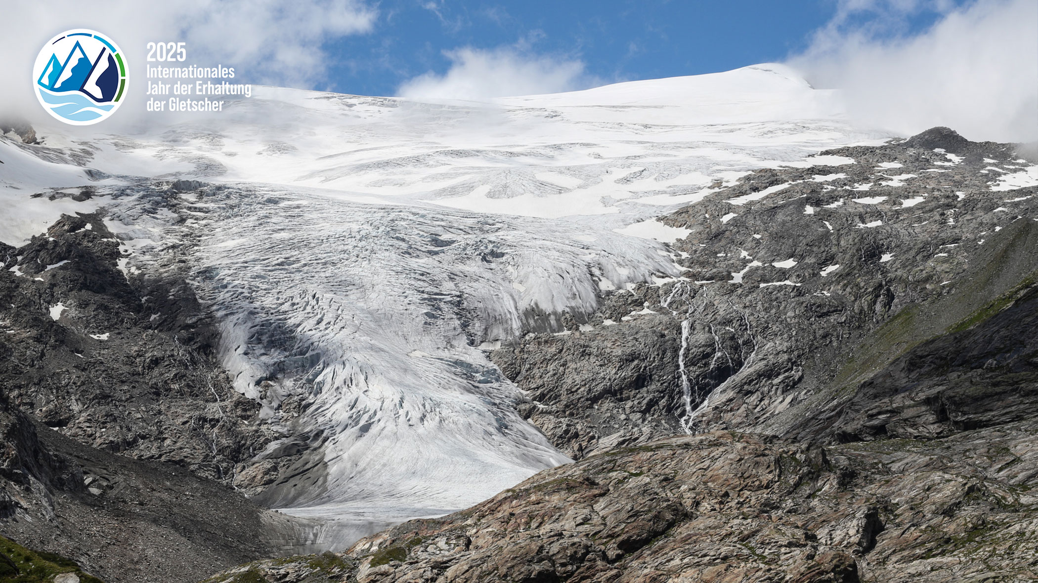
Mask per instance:
[[[197,581],[271,556],[278,532],[292,529],[285,517],[213,480],[87,447],[46,426],[36,432],[38,457],[51,460],[52,477],[0,479],[13,500],[0,531],[109,583]]]

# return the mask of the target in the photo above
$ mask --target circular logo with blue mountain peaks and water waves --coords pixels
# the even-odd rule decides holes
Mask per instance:
[[[100,32],[66,30],[39,51],[32,81],[39,105],[55,119],[89,126],[115,113],[122,103],[126,58]]]

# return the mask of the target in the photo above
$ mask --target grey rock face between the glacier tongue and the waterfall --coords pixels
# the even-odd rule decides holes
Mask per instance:
[[[680,342],[680,324],[656,315],[624,327],[538,334],[491,358],[526,391],[522,416],[579,460],[681,431],[684,402],[674,390]]]

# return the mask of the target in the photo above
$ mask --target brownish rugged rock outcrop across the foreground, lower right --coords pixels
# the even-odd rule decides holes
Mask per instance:
[[[727,432],[670,438],[364,538],[334,570],[278,559],[207,582],[250,572],[363,583],[1028,581],[1038,576],[1036,429],[827,448]],[[281,577],[290,564],[311,578]]]

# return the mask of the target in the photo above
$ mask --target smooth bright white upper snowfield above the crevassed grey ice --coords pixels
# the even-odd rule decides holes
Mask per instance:
[[[152,115],[63,144],[111,173],[565,217],[658,214],[717,179],[883,137],[852,130],[834,91],[776,64],[492,103],[262,87],[219,115]]]

